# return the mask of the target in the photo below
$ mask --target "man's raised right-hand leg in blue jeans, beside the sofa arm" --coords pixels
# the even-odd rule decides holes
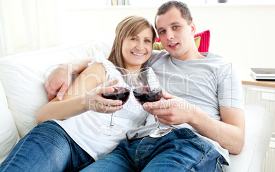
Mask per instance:
[[[222,156],[191,130],[175,130],[156,146],[143,171],[221,171]]]

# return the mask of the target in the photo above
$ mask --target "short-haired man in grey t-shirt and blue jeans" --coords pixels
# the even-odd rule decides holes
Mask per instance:
[[[121,141],[84,171],[222,171],[222,164],[230,163],[228,153],[239,154],[244,146],[235,66],[213,53],[198,53],[196,27],[185,3],[161,5],[155,27],[166,51],[153,52],[148,66],[170,94],[143,108],[174,130],[164,137]]]

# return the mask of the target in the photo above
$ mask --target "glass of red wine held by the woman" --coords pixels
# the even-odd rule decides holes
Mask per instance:
[[[121,100],[122,104],[125,104],[130,96],[130,86],[128,85],[130,71],[124,68],[108,67],[106,69],[105,82],[103,87],[109,87],[109,82],[118,78],[118,83],[112,85],[114,92],[102,94],[103,98],[112,100]],[[118,126],[114,126],[114,114],[112,113],[110,124],[101,126],[101,132],[108,136],[117,136],[122,130]]]

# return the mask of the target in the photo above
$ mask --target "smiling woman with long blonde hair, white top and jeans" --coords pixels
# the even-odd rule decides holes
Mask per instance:
[[[122,106],[118,100],[104,99],[99,87],[105,78],[106,66],[126,68],[130,72],[144,66],[149,59],[156,33],[140,16],[129,16],[116,28],[116,38],[108,60],[100,53],[94,56],[66,91],[62,101],[53,99],[37,115],[38,126],[14,147],[0,166],[0,171],[79,171],[109,153],[125,139],[128,130],[142,125],[147,114],[133,96]],[[107,92],[114,89],[108,87]],[[92,110],[92,111],[90,111]],[[120,111],[118,111],[120,110]],[[109,137],[100,127],[116,116],[122,134]]]

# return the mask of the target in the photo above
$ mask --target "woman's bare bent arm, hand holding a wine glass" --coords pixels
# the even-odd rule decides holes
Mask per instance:
[[[114,91],[112,87],[107,89],[98,87],[103,83],[104,78],[105,68],[102,63],[94,63],[79,74],[66,91],[62,101],[54,98],[40,109],[36,116],[37,123],[51,119],[68,119],[89,110],[112,113],[122,109],[122,106],[108,106],[108,104],[120,105],[121,101],[102,98],[103,91]]]

